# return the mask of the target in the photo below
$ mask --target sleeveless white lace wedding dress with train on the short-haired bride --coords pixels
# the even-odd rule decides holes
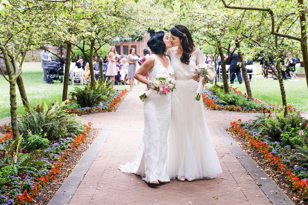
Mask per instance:
[[[174,74],[169,61],[168,69],[163,67],[156,55],[151,58],[155,63],[149,71],[149,79],[154,80],[157,74],[165,72]],[[167,137],[171,118],[171,94],[151,94],[144,101],[144,130],[137,153],[131,163],[121,165],[122,172],[143,176],[143,180],[170,181],[167,169]]]

